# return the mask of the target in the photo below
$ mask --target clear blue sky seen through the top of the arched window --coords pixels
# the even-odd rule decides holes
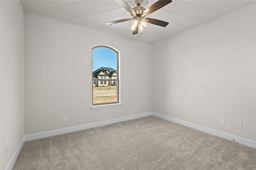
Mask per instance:
[[[94,48],[92,50],[92,71],[100,67],[116,69],[116,52],[105,47]]]

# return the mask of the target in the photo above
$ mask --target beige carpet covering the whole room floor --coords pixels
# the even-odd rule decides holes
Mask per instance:
[[[256,149],[149,116],[25,142],[14,170],[256,170]]]

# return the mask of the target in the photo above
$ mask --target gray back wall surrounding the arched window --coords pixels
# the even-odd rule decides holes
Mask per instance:
[[[92,47],[96,45],[120,51],[121,107],[91,110]],[[152,111],[151,47],[25,12],[25,133]],[[63,115],[68,121],[62,121]]]

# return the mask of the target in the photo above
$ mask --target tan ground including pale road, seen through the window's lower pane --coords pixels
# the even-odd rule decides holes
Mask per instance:
[[[100,104],[117,102],[117,83],[118,82],[116,81],[116,85],[113,86],[93,87],[93,103]]]

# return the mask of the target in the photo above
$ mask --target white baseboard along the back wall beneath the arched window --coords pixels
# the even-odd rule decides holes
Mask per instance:
[[[121,117],[121,118],[117,118],[117,119],[110,119],[110,120],[96,122],[96,123],[89,123],[89,124],[86,124],[86,125],[80,125],[80,126],[75,126],[75,127],[68,127],[68,128],[57,129],[57,130],[50,130],[50,131],[47,131],[47,132],[29,134],[29,135],[25,135],[25,142],[29,141],[29,140],[36,140],[36,139],[40,139],[40,138],[55,136],[55,135],[58,135],[58,134],[76,132],[78,130],[100,127],[100,126],[109,125],[109,124],[112,124],[112,123],[129,121],[129,120],[132,120],[132,119],[138,119],[140,117],[146,117],[146,116],[151,116],[151,115],[152,115],[152,112],[148,112],[148,113],[142,113],[142,114],[138,114],[138,115]]]

